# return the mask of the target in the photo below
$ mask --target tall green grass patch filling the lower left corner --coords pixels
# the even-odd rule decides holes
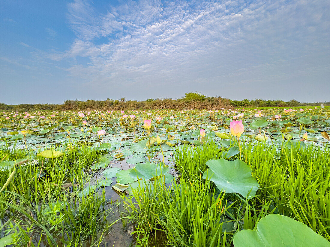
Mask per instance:
[[[47,246],[80,246],[86,239],[97,244],[114,223],[108,216],[115,206],[106,205],[102,188],[101,196],[78,195],[94,176],[90,166],[100,156],[100,151],[70,143],[66,153],[56,159],[15,149],[0,150],[0,160],[31,158],[2,172],[0,185],[15,170],[13,179],[0,193],[0,218],[7,221],[0,232],[1,228],[7,233],[16,232],[18,246],[37,246],[42,241]],[[68,183],[73,186],[62,186]]]

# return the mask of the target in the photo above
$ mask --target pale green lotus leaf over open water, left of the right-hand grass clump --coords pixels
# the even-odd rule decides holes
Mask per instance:
[[[165,175],[170,169],[167,166],[160,166],[154,163],[146,162],[145,164],[137,164],[130,172],[130,176],[137,179],[149,180],[160,175]]]

